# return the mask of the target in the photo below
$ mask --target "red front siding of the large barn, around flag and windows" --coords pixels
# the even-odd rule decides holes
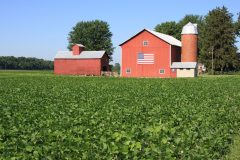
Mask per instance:
[[[143,46],[145,40],[148,41],[148,46]],[[170,68],[170,48],[171,45],[167,42],[143,31],[122,45],[121,75],[123,77],[176,77],[176,73]],[[173,50],[175,55],[178,49],[173,47]],[[154,54],[154,64],[137,64],[139,52]],[[127,68],[131,69],[130,74],[126,73]],[[160,74],[160,69],[164,69],[165,73]]]

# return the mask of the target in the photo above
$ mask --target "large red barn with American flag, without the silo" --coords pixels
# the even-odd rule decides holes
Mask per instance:
[[[176,77],[172,62],[181,61],[181,41],[144,29],[120,44],[122,77]]]

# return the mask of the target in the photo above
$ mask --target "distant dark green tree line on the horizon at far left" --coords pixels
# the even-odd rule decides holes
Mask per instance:
[[[0,56],[0,69],[52,70],[53,61],[38,58]]]

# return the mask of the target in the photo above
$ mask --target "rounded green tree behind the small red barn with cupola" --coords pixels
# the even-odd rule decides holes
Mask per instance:
[[[106,50],[112,59],[114,48],[111,37],[112,33],[107,22],[81,21],[69,33],[68,49],[71,50],[73,44],[83,44],[87,50]]]

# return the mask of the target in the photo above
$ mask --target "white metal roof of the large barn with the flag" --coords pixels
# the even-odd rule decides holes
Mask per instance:
[[[179,41],[178,39],[174,38],[173,36],[170,35],[166,35],[163,33],[159,33],[150,29],[143,29],[141,32],[137,33],[136,35],[134,35],[133,37],[129,38],[128,40],[126,40],[125,42],[123,42],[122,44],[120,44],[120,46],[122,46],[123,44],[125,44],[126,42],[128,42],[129,40],[133,39],[134,37],[136,37],[137,35],[139,35],[140,33],[147,31],[149,33],[151,33],[152,35],[156,36],[157,38],[164,40],[165,42],[174,45],[174,46],[182,46],[181,41]]]

